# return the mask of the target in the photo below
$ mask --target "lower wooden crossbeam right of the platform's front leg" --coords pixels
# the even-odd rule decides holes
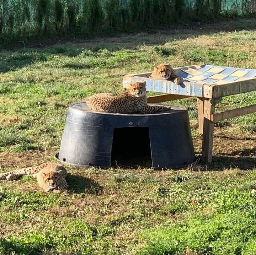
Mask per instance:
[[[255,112],[256,112],[256,104],[253,104],[253,105],[237,108],[234,110],[229,110],[229,111],[222,112],[222,113],[212,114],[210,116],[210,120],[213,122],[216,122],[216,121],[230,119],[230,118],[234,118],[237,116],[241,116],[241,115],[245,115],[245,114],[249,114],[249,113],[255,113]]]

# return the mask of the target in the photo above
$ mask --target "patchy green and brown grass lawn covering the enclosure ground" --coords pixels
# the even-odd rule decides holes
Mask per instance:
[[[0,172],[53,161],[69,104],[121,92],[125,74],[169,62],[256,69],[255,26],[240,19],[0,51]],[[196,98],[171,103],[188,108],[199,156]],[[217,112],[249,104],[256,92],[223,98]],[[217,123],[212,163],[187,169],[67,166],[69,192],[43,193],[27,176],[1,181],[0,255],[256,254],[255,132],[256,114]]]

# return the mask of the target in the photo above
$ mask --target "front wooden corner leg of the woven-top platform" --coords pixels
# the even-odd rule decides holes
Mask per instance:
[[[203,146],[202,146],[202,161],[212,161],[213,149],[213,121],[210,119],[211,114],[214,114],[215,104],[213,100],[204,99],[204,122],[203,122]]]

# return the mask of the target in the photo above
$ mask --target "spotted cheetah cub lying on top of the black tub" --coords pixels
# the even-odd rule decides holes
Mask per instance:
[[[95,94],[86,100],[90,110],[108,113],[142,113],[170,110],[170,106],[149,105],[146,99],[146,82],[134,82],[122,94]]]

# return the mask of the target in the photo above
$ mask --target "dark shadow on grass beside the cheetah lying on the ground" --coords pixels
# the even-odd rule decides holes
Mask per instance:
[[[80,175],[68,174],[66,180],[69,184],[69,190],[77,194],[101,195],[103,192],[103,187],[96,181]]]

